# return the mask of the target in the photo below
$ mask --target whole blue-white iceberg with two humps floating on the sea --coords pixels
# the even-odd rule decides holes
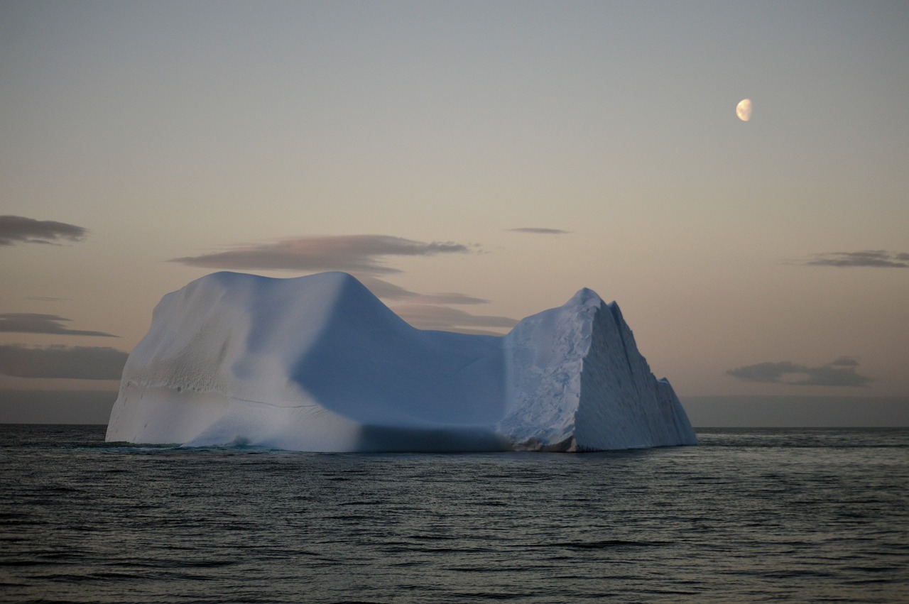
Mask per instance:
[[[505,336],[417,330],[343,272],[216,272],[165,295],[107,441],[295,451],[694,444],[615,302],[584,289]]]

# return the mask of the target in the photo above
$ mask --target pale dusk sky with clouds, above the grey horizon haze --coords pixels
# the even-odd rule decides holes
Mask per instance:
[[[907,31],[886,1],[0,1],[0,391],[115,392],[208,272],[340,270],[465,332],[589,287],[683,401],[904,413]]]

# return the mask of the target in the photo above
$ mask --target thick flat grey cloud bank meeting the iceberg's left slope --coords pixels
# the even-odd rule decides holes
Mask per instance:
[[[127,354],[102,346],[0,345],[0,373],[17,378],[119,380]]]

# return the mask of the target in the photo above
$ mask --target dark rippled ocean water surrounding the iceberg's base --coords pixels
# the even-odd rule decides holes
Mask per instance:
[[[0,425],[0,600],[909,601],[909,431],[594,454],[112,446]]]

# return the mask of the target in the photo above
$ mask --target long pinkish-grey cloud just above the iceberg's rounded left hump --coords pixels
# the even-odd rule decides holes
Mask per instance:
[[[225,252],[170,262],[215,269],[389,273],[400,271],[385,266],[381,262],[383,256],[466,252],[470,252],[468,246],[454,242],[424,243],[390,235],[335,235],[236,245]]]

